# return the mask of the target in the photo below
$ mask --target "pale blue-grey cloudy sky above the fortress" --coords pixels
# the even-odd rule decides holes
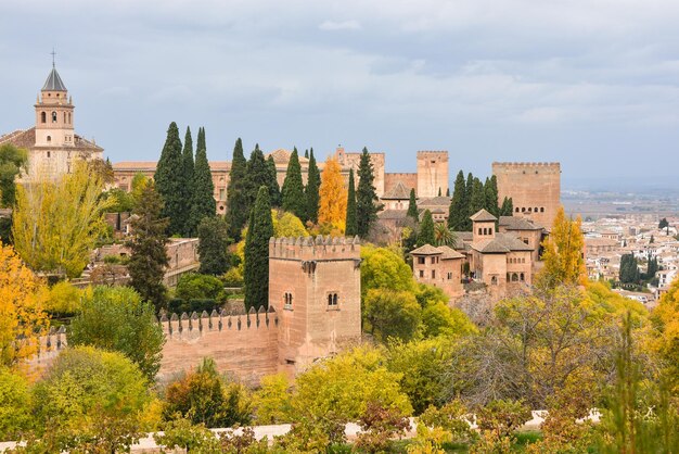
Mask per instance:
[[[155,160],[167,125],[212,160],[340,143],[413,171],[561,161],[564,180],[679,166],[676,0],[0,2],[0,133],[33,124],[56,66],[79,134]],[[454,171],[454,172],[453,172]]]

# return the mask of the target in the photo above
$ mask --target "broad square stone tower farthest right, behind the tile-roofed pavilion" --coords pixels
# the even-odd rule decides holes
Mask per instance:
[[[551,229],[561,205],[560,163],[492,163],[498,178],[498,202],[512,198],[514,216]]]

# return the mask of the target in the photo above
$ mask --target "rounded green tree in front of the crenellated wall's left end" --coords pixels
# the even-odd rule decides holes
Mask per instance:
[[[69,345],[120,352],[153,382],[165,343],[154,313],[153,305],[129,287],[97,287],[71,321]]]

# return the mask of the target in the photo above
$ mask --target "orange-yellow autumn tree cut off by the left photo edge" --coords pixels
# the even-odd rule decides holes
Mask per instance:
[[[0,366],[12,366],[36,353],[48,317],[43,285],[11,245],[0,244]]]

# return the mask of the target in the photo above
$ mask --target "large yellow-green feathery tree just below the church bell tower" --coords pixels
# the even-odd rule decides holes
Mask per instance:
[[[78,163],[56,180],[41,178],[17,188],[12,220],[16,252],[35,272],[78,277],[97,239],[106,234],[101,175]]]

